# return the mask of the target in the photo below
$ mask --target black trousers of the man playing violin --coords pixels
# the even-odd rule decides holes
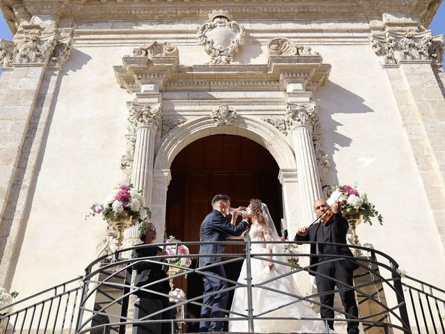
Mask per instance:
[[[345,269],[339,262],[329,262],[325,264],[318,264],[317,273],[321,273],[323,275],[335,278],[346,285],[353,286],[353,270]],[[337,289],[343,289],[346,285],[341,283],[337,283],[330,278],[326,278],[323,276],[316,276],[316,285],[318,289],[318,293],[322,294],[323,292],[330,292],[327,294],[323,294],[320,296],[320,301],[323,305],[327,305],[330,307],[334,306],[334,288],[337,285]],[[341,302],[343,303],[343,307],[346,312],[346,319],[355,319],[358,317],[359,312],[357,308],[357,303],[355,302],[355,295],[352,289],[346,289],[339,292]],[[322,318],[333,318],[334,310],[330,310],[326,306],[321,305],[320,312]],[[329,327],[334,329],[334,321],[327,321]],[[348,323],[348,334],[358,334],[359,324],[357,322],[349,322]]]

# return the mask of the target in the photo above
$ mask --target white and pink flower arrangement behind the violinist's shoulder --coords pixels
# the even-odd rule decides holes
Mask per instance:
[[[369,223],[369,225],[372,225],[371,218],[375,217],[382,225],[382,215],[375,209],[375,205],[369,202],[366,193],[359,191],[357,186],[334,184],[331,189],[333,192],[327,200],[327,204],[332,205],[335,200],[338,200],[342,203],[343,212],[358,212],[363,216],[364,223]]]

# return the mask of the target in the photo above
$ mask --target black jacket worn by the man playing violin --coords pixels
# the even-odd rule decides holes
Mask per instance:
[[[318,242],[332,242],[335,244],[345,244],[346,245],[346,232],[348,232],[349,224],[348,219],[343,217],[341,213],[334,214],[331,218],[331,223],[329,225],[329,234],[325,240],[317,240],[318,228],[321,227],[321,223],[315,223],[312,228],[309,229],[309,233],[304,236],[296,234],[294,241],[318,241]],[[334,248],[334,254],[345,255],[353,257],[353,253],[350,251],[348,246],[332,246]],[[311,244],[311,254],[318,254],[316,244]],[[333,257],[332,257],[333,258]],[[317,264],[318,257],[312,256],[310,264]],[[351,260],[341,260],[339,263],[346,269],[357,269],[359,266],[357,262]],[[312,267],[313,271],[316,271],[316,266]],[[315,273],[310,273],[315,276]]]

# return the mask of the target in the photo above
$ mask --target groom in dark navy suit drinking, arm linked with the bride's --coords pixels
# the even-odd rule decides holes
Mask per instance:
[[[200,229],[200,239],[202,241],[225,241],[228,235],[238,237],[246,228],[248,228],[248,221],[242,220],[241,223],[234,226],[229,223],[225,217],[230,212],[230,198],[227,195],[216,195],[211,200],[213,210],[204,218]],[[200,254],[223,254],[225,245],[223,244],[202,244],[200,247]],[[223,260],[220,256],[200,257],[200,267],[217,264]],[[225,278],[225,271],[222,264],[203,269],[206,273],[213,276],[206,275],[202,280],[204,281],[204,294],[211,294],[204,296],[201,308],[201,318],[223,318],[225,317],[225,310],[227,308],[228,292],[219,292],[227,289],[227,282],[220,278]],[[216,310],[209,308],[207,305],[221,309]],[[223,331],[224,321],[200,321],[200,332],[207,333]]]

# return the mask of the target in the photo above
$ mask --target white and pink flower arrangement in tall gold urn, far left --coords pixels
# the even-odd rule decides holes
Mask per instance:
[[[133,189],[133,184],[122,184],[108,195],[104,204],[93,204],[89,216],[102,214],[104,221],[110,221],[111,212],[120,214],[124,211],[129,212],[133,217],[134,223],[140,223],[152,218],[152,212],[145,206],[145,201],[141,195],[142,190]]]

